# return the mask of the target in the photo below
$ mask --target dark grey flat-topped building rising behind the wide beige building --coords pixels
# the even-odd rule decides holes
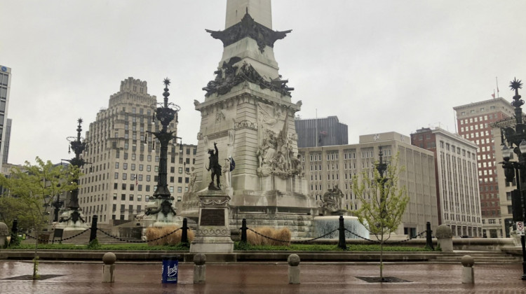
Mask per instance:
[[[298,148],[349,144],[347,125],[340,123],[337,116],[296,118],[294,123]]]

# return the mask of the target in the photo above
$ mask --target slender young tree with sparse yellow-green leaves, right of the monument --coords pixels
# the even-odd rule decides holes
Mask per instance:
[[[360,200],[356,211],[358,221],[380,242],[380,279],[384,281],[384,244],[395,232],[409,202],[405,186],[399,186],[398,176],[403,167],[398,167],[398,155],[394,164],[375,163],[375,169],[353,176],[353,193]]]

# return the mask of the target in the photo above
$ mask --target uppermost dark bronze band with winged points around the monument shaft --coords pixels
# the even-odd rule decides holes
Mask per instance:
[[[234,44],[246,37],[252,38],[257,42],[259,51],[263,52],[265,46],[274,48],[274,43],[285,38],[292,29],[288,31],[273,31],[255,22],[250,14],[246,13],[243,19],[241,19],[241,22],[224,31],[211,31],[210,29],[206,31],[210,33],[213,38],[220,39],[223,42],[223,47]]]

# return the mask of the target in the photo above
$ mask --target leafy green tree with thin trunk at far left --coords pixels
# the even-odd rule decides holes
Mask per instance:
[[[11,177],[0,174],[0,185],[10,190],[11,200],[3,200],[17,211],[22,229],[33,229],[36,237],[48,225],[50,204],[55,195],[76,188],[74,179],[79,176],[79,168],[74,165],[53,165],[36,158],[36,165],[25,162],[22,167],[13,167]],[[4,211],[2,211],[4,217]],[[13,218],[12,214],[5,214]],[[13,220],[11,219],[11,222]],[[38,242],[35,242],[35,260]],[[34,262],[33,278],[38,279],[37,262]]]

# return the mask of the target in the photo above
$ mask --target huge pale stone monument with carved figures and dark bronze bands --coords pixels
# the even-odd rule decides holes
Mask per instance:
[[[208,151],[217,142],[220,164],[230,157],[236,162],[221,179],[231,197],[232,227],[232,219],[241,222],[245,214],[271,225],[279,214],[297,220],[316,211],[297,157],[294,118],[301,102],[291,102],[294,89],[279,75],[274,58],[274,43],[290,31],[271,28],[270,0],[227,0],[225,29],[207,30],[224,49],[215,80],[203,87],[205,101],[194,102],[201,112],[196,191],[209,187]],[[197,211],[196,193],[187,193],[182,214]]]

